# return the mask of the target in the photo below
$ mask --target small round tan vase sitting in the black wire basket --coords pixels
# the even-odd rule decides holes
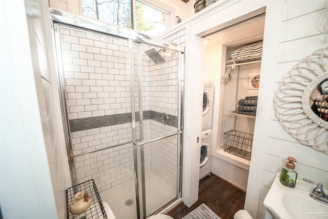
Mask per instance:
[[[74,215],[84,213],[90,207],[90,204],[91,198],[88,193],[79,191],[74,195],[74,200],[70,204],[70,212]]]

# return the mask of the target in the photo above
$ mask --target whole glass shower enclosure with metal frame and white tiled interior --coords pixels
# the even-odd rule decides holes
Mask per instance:
[[[181,198],[183,48],[51,9],[73,185],[93,179],[117,219]]]

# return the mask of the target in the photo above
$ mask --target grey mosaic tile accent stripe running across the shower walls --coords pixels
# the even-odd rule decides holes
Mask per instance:
[[[161,113],[155,111],[143,111],[142,115],[144,116],[144,120],[154,120],[160,122],[159,118]],[[136,121],[139,121],[139,113],[136,112]],[[74,120],[70,120],[70,131],[82,131],[106,126],[113,126],[125,123],[131,123],[131,113],[121,113],[115,115],[103,115],[103,116],[95,116],[88,118],[76,118]],[[178,127],[178,117],[175,115],[169,115],[169,126]]]

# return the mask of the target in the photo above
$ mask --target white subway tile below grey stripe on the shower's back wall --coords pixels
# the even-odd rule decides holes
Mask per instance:
[[[72,132],[74,154],[132,141],[131,123]],[[133,145],[97,151],[74,158],[78,183],[93,179],[100,192],[134,177]]]

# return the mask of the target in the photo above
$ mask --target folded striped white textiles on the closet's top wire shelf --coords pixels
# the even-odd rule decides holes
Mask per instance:
[[[242,46],[231,54],[232,59],[252,58],[262,55],[263,41]]]

